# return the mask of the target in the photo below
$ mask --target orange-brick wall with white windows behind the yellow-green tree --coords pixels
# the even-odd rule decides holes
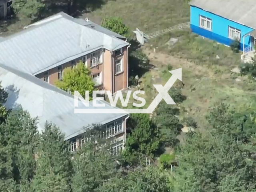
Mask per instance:
[[[82,61],[90,68],[95,85],[114,93],[128,87],[127,53],[128,46],[114,52],[99,49],[45,72],[41,72],[40,74],[36,74],[36,77],[54,85],[56,81],[62,79],[64,69],[73,68],[78,62]]]

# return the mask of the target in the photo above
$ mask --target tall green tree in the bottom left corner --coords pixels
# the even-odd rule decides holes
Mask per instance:
[[[14,110],[0,127],[0,186],[2,191],[27,191],[35,170],[38,145],[36,119],[22,109]]]

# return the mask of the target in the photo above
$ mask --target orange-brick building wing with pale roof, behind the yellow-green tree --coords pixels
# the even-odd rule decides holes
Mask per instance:
[[[0,63],[54,85],[81,60],[95,85],[114,94],[128,88],[129,46],[125,37],[88,18],[60,12],[1,40]]]

